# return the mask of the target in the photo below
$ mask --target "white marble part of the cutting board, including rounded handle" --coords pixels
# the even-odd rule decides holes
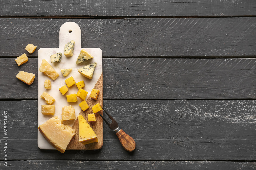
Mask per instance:
[[[71,33],[70,33],[71,32]],[[74,54],[72,57],[66,57],[64,55],[64,46],[69,41],[74,40]],[[52,42],[50,42],[52,43]],[[69,94],[77,94],[78,88],[76,85],[73,85],[69,87],[69,91],[62,95],[59,91],[59,88],[66,85],[65,80],[69,77],[73,77],[74,80],[77,82],[84,81],[85,87],[83,87],[84,90],[88,92],[88,95],[85,100],[88,99],[88,97],[91,94],[91,90],[94,88],[95,84],[97,83],[99,77],[102,73],[102,51],[100,48],[82,48],[81,47],[81,29],[75,22],[66,22],[60,27],[60,46],[59,48],[40,48],[38,50],[38,119],[37,119],[37,125],[41,125],[47,120],[49,120],[51,117],[58,116],[61,119],[61,112],[63,106],[69,106],[75,108],[76,117],[81,111],[81,108],[79,107],[79,103],[82,102],[81,99],[77,98],[78,102],[72,102],[68,103],[66,95]],[[87,61],[84,61],[82,63],[76,64],[76,60],[78,55],[80,54],[80,51],[82,49],[85,49],[88,53],[90,53],[94,58],[89,59]],[[52,54],[56,53],[62,53],[61,61],[59,63],[51,63],[50,56]],[[56,80],[50,79],[47,75],[39,71],[39,67],[41,65],[42,59],[45,59],[60,75]],[[87,79],[86,77],[82,76],[77,69],[86,66],[87,64],[97,62],[93,79]],[[60,71],[60,69],[70,69],[73,68],[73,70],[64,77]],[[44,88],[44,81],[48,79],[51,81],[51,89],[45,90]],[[54,115],[42,115],[41,114],[41,105],[46,104],[45,100],[40,98],[40,95],[46,91],[49,95],[54,97],[56,101],[53,103],[55,105],[55,114]],[[73,121],[70,122],[64,122],[64,124],[67,124],[72,127],[74,123]],[[37,127],[38,127],[37,126]],[[40,149],[55,149],[53,146],[50,145],[50,143],[41,135],[39,130],[37,129],[37,144]]]

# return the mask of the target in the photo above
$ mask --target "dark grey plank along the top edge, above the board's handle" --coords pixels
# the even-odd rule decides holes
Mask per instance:
[[[250,16],[255,2],[242,1],[7,1],[2,2],[1,16]],[[60,10],[61,9],[61,10]]]

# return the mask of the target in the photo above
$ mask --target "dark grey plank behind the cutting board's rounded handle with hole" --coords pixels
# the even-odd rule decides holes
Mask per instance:
[[[256,51],[256,17],[1,18],[0,56],[20,56],[28,43],[59,47],[59,28],[67,21],[80,26],[82,47],[99,47],[104,57],[252,57]]]

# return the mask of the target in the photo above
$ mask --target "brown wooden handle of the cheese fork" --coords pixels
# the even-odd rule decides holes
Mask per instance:
[[[116,135],[119,138],[125,150],[132,152],[135,149],[136,147],[135,141],[131,136],[127,135],[122,129],[119,130],[119,132],[116,133]]]

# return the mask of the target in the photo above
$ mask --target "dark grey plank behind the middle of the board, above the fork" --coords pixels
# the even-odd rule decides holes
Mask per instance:
[[[255,99],[256,59],[103,59],[103,99]],[[37,75],[37,59],[0,59],[0,98],[36,99],[15,76]],[[13,93],[15,91],[15,93]]]

